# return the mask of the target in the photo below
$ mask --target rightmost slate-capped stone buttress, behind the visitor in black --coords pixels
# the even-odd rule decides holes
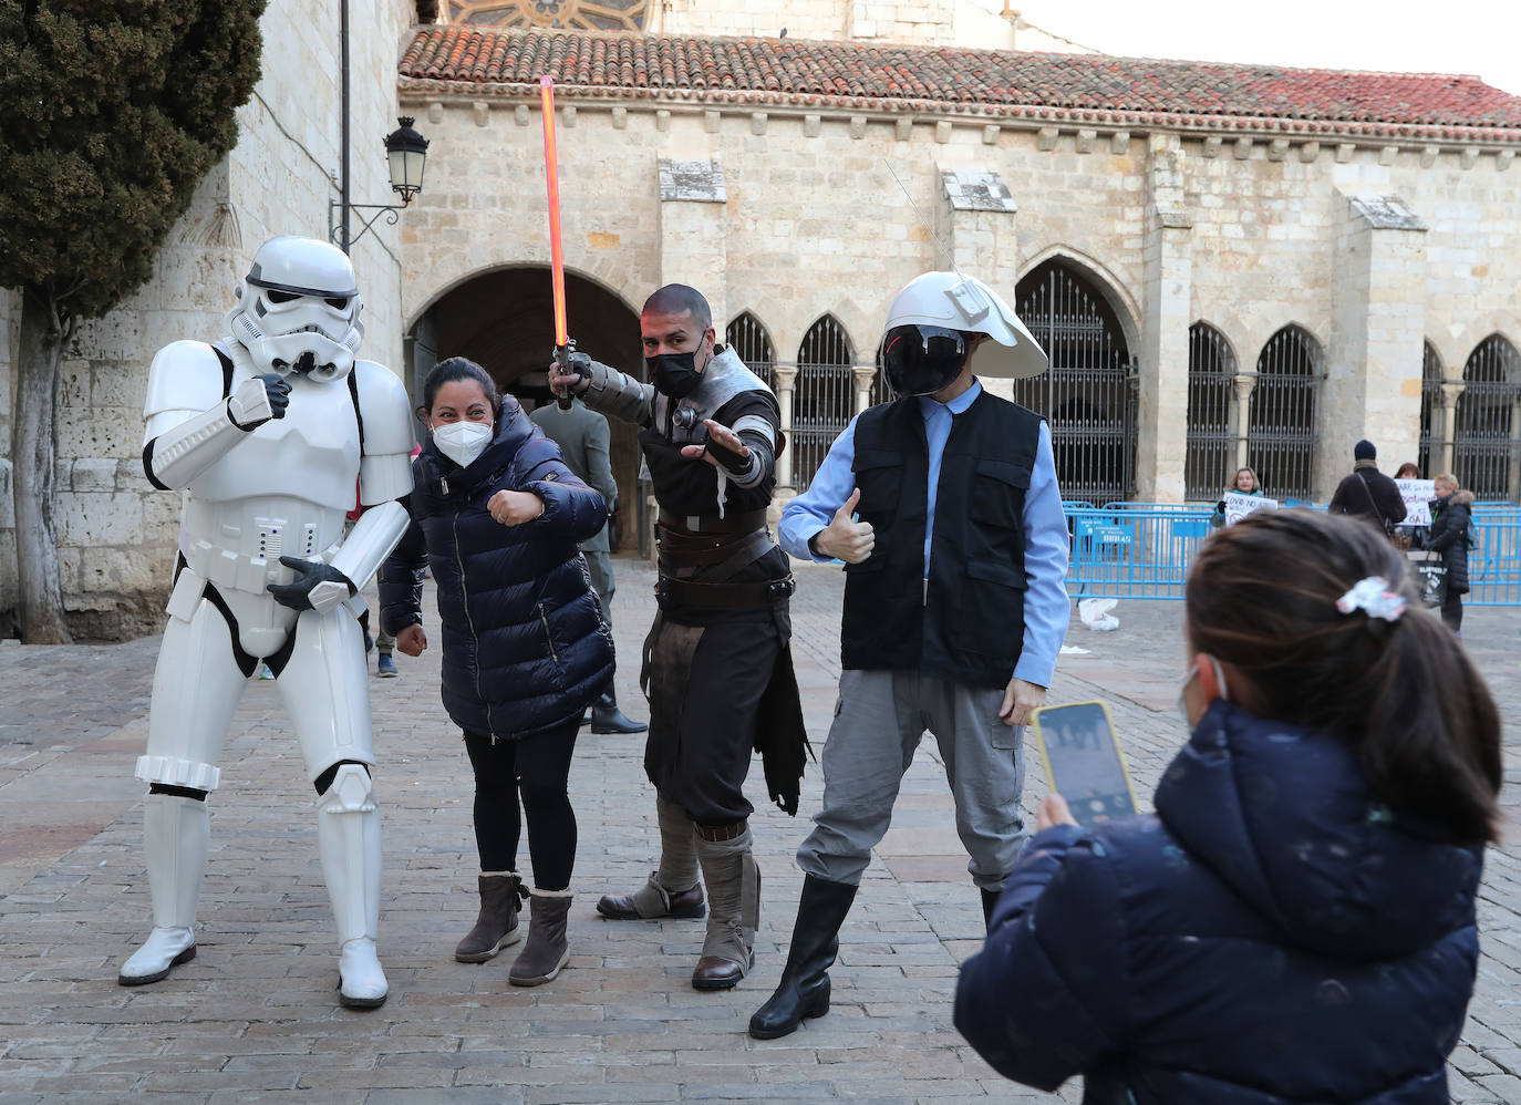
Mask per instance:
[[[1425,224],[1392,195],[1343,196],[1314,492],[1331,496],[1367,438],[1384,467],[1421,443],[1425,355]]]

